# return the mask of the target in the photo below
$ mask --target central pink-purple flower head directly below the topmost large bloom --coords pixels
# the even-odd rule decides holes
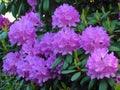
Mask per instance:
[[[65,27],[54,35],[52,45],[55,54],[72,54],[72,51],[80,48],[80,35]]]

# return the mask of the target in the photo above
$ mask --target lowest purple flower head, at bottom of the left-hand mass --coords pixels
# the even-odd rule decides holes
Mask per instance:
[[[51,72],[46,67],[45,60],[33,55],[27,55],[17,63],[17,74],[39,85],[51,78]]]

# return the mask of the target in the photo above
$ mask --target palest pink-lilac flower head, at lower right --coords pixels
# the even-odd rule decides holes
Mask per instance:
[[[86,67],[88,69],[87,75],[91,79],[115,77],[118,70],[118,59],[113,52],[108,54],[107,49],[97,49],[89,56]]]

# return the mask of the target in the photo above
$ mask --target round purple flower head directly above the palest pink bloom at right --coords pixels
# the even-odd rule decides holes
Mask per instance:
[[[97,48],[107,48],[108,46],[110,46],[110,37],[102,27],[89,26],[83,31],[81,47],[86,53],[91,53]]]

